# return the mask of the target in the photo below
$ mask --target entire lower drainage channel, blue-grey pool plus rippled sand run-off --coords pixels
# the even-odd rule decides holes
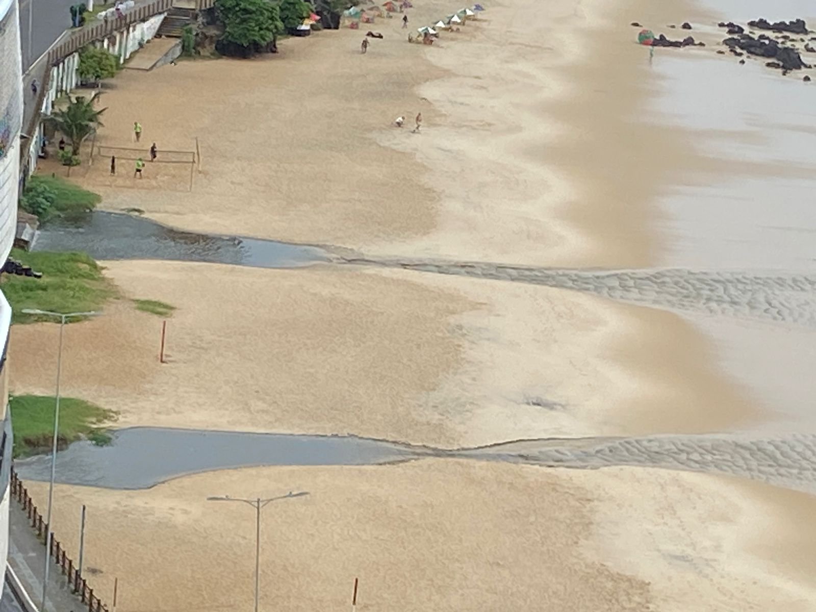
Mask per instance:
[[[56,481],[147,489],[176,477],[259,466],[384,465],[424,458],[526,463],[549,468],[665,468],[750,478],[816,494],[816,436],[737,435],[544,438],[437,449],[353,436],[211,432],[137,427],[110,446],[75,442],[57,455]],[[20,477],[47,481],[47,455],[17,460]]]

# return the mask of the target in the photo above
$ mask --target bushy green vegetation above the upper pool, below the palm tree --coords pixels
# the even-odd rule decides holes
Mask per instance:
[[[60,176],[33,175],[20,197],[20,208],[41,221],[55,216],[71,217],[92,211],[102,198]]]

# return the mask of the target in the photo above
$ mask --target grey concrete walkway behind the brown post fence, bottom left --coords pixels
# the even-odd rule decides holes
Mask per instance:
[[[46,547],[37,538],[20,503],[11,499],[9,504],[9,546],[8,563],[20,579],[23,588],[29,593],[34,605],[40,610],[42,597],[42,576]],[[74,596],[69,588],[68,581],[60,571],[59,565],[51,563],[48,570],[48,592],[45,612],[73,612],[87,607]]]

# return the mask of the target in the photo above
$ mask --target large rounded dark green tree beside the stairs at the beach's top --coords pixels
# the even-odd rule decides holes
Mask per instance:
[[[243,55],[274,43],[283,32],[277,5],[268,0],[215,0],[215,9],[224,24],[222,41],[242,47]]]

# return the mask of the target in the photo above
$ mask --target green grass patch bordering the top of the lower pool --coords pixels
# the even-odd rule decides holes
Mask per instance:
[[[14,430],[14,456],[28,457],[51,451],[54,435],[55,398],[47,395],[18,395],[9,398],[11,426]],[[116,420],[113,410],[105,410],[90,401],[60,397],[60,430],[57,448],[87,438],[104,446],[111,441],[106,424]]]

